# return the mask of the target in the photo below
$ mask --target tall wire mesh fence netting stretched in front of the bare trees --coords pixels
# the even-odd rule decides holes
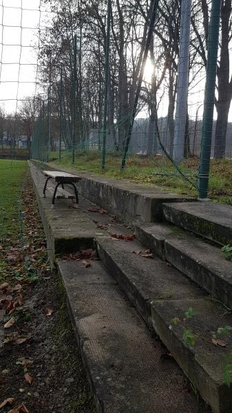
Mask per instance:
[[[108,175],[131,169],[130,178],[170,187],[177,178],[180,191],[182,181],[197,190],[211,1],[203,3],[2,1],[1,150],[30,149],[34,159]],[[211,158],[218,147],[231,158],[226,128],[215,111]]]

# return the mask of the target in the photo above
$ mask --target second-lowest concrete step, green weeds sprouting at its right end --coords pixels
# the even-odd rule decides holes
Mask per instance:
[[[226,348],[214,346],[213,332],[231,325],[231,315],[212,301],[202,289],[170,264],[154,256],[142,257],[141,244],[116,242],[107,237],[96,241],[99,257],[114,275],[127,297],[149,326],[158,334],[179,366],[215,413],[232,412],[232,392],[224,383],[224,356],[232,350],[232,339]],[[191,319],[184,313],[196,312]],[[175,326],[172,319],[180,320]],[[184,331],[193,332],[196,344],[184,340]]]

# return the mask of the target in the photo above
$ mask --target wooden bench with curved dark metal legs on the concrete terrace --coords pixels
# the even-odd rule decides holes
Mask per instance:
[[[74,205],[77,206],[79,201],[78,201],[78,193],[77,193],[75,183],[81,180],[79,176],[75,176],[75,175],[72,175],[72,173],[61,172],[61,171],[43,171],[43,174],[47,178],[45,181],[44,188],[43,188],[43,196],[45,198],[46,189],[52,192],[52,209],[54,209],[55,198],[56,199],[61,199],[61,198],[76,199],[76,204]],[[48,188],[48,181],[50,179],[53,179],[56,182],[56,187]],[[65,191],[64,184],[69,184],[74,188],[74,195],[72,195],[70,192]],[[62,189],[59,188],[60,185]]]

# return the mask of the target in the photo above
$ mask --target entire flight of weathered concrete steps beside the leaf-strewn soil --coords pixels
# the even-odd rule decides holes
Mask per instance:
[[[65,251],[95,246],[101,260],[89,268],[81,262],[57,262],[97,411],[210,412],[186,389],[183,394],[184,376],[173,363],[175,359],[214,413],[232,413],[232,392],[222,372],[225,356],[232,352],[232,339],[212,342],[218,328],[232,324],[228,308],[231,262],[224,260],[218,246],[180,228],[193,231],[186,223],[191,218],[184,224],[181,219],[184,212],[180,207],[185,210],[188,204],[165,204],[162,208],[169,222],[137,223],[137,240],[126,242],[109,233],[126,234],[129,229],[110,215],[89,211],[90,204],[82,197],[78,210],[68,209],[65,201],[51,210],[45,203],[49,201],[41,200],[43,182],[38,183],[38,176],[34,173],[34,184],[46,234],[52,240],[48,243],[51,259],[61,253],[64,244]],[[199,203],[189,203],[193,204],[196,213]],[[199,222],[198,235],[227,243],[220,239],[219,222],[211,233],[210,221],[204,227],[203,214]],[[228,227],[225,222],[224,227]],[[223,237],[229,240],[226,231]],[[154,257],[143,257],[145,247]],[[193,309],[192,317],[189,308]],[[160,365],[165,350],[157,336],[171,353],[171,368]]]

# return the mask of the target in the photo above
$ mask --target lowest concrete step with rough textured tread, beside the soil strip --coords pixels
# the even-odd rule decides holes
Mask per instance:
[[[83,363],[101,413],[206,413],[101,262],[58,261]]]

